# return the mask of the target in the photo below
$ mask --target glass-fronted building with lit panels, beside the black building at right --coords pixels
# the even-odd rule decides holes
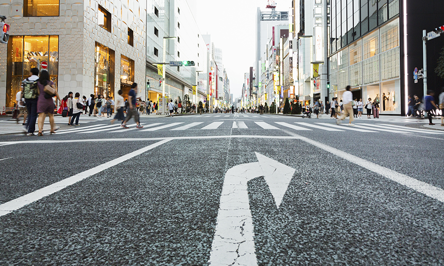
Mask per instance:
[[[379,102],[380,112],[401,114],[399,0],[332,0],[330,95]]]

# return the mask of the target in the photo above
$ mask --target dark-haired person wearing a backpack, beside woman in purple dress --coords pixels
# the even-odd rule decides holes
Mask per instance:
[[[26,125],[23,128],[28,131],[29,136],[34,136],[36,131],[37,121],[37,101],[38,101],[38,68],[31,68],[31,76],[22,81],[22,90],[25,98],[26,109],[28,112],[28,119]]]

